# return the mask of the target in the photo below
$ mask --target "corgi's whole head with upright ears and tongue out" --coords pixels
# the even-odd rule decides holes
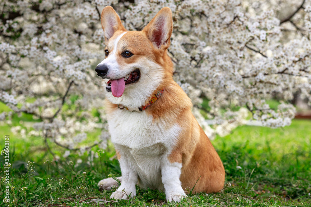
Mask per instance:
[[[173,22],[168,7],[142,31],[127,31],[114,9],[107,6],[101,13],[106,58],[95,71],[103,79],[106,97],[115,104],[140,107],[173,74],[173,64],[167,55]]]

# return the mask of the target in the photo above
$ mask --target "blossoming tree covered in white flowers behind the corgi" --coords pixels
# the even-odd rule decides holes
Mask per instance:
[[[0,119],[30,114],[38,122],[27,134],[46,144],[80,153],[105,148],[104,89],[94,68],[104,59],[106,5],[128,30],[141,30],[162,7],[171,8],[174,79],[210,137],[244,124],[248,114],[265,126],[289,125],[296,94],[311,104],[310,1],[1,0],[0,100],[12,111]],[[273,97],[281,100],[277,108],[266,103]],[[79,145],[99,123],[98,141]]]

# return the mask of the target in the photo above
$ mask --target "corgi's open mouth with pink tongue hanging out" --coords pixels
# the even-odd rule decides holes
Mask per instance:
[[[121,97],[124,92],[125,85],[135,83],[138,81],[139,78],[140,71],[136,69],[124,76],[123,78],[117,80],[110,79],[107,83],[105,82],[106,91],[112,92],[112,95],[114,97]]]

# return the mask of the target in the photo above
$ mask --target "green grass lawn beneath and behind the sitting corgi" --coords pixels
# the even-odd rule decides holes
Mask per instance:
[[[13,119],[12,125],[19,125],[19,122]],[[15,187],[10,192],[11,203],[3,203],[4,166],[1,156],[0,206],[99,206],[86,202],[93,197],[111,200],[109,196],[113,191],[99,191],[97,187],[97,182],[109,174],[120,175],[110,143],[105,151],[94,148],[98,150],[99,157],[90,164],[87,164],[90,155],[86,153],[82,157],[76,154],[61,157],[56,162],[48,153],[43,139],[16,137],[6,124],[0,126],[0,131],[0,143],[4,143],[4,134],[10,134],[10,155],[14,157],[11,160],[14,168],[10,169],[10,187]],[[99,133],[89,134],[90,139]],[[278,129],[240,126],[230,135],[216,137],[212,141],[225,166],[223,192],[189,195],[177,204],[167,203],[163,192],[137,187],[135,198],[105,205],[311,206],[310,142],[311,122],[307,120],[293,120],[291,126]],[[63,149],[54,149],[62,155]],[[77,164],[80,158],[82,163]],[[33,168],[27,166],[28,161],[35,162]],[[21,187],[27,189],[18,192]]]

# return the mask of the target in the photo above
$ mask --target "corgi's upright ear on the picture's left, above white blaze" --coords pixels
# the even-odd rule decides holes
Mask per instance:
[[[101,12],[100,23],[104,30],[106,42],[108,42],[116,31],[126,31],[117,12],[110,6],[105,7]]]

